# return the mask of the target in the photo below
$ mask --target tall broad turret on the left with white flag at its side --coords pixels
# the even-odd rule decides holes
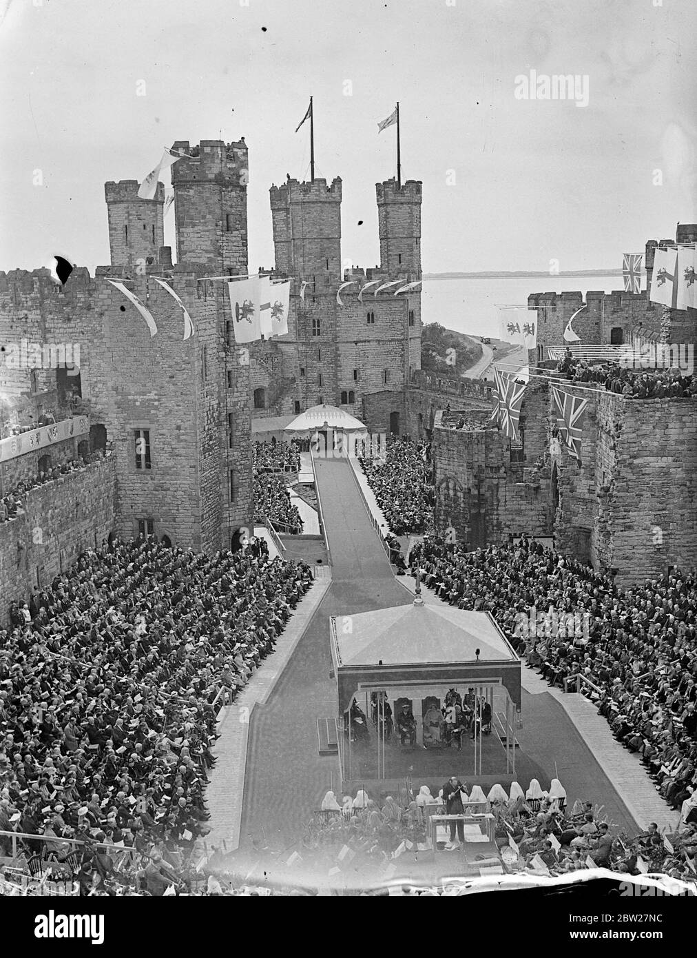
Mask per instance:
[[[215,273],[247,272],[247,145],[177,141],[191,154],[171,168],[178,262],[201,263]]]

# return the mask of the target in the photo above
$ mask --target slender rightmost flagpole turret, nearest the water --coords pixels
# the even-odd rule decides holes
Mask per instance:
[[[421,276],[421,182],[394,179],[375,184],[380,265],[390,276]]]

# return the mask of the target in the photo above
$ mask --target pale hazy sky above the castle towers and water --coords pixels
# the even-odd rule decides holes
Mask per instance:
[[[310,95],[345,264],[379,261],[396,101],[427,272],[618,268],[697,220],[694,0],[0,0],[0,17],[0,269],[108,263],[105,181],[142,180],[175,140],[242,136],[249,266],[270,267],[268,191],[309,178]],[[577,95],[526,99],[531,71]]]

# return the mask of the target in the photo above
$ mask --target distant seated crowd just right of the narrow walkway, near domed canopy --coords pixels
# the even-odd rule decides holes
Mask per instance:
[[[430,447],[409,436],[390,437],[385,458],[359,458],[395,536],[428,532],[433,524],[434,489]]]

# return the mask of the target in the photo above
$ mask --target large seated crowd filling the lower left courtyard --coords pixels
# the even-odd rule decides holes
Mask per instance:
[[[0,832],[48,836],[17,840],[67,859],[83,894],[104,880],[163,894],[161,873],[205,834],[216,713],[311,582],[258,548],[207,557],[139,537],[85,553],[34,617],[15,607],[0,630]],[[100,842],[133,850],[121,870]],[[0,855],[11,847],[0,835]]]

